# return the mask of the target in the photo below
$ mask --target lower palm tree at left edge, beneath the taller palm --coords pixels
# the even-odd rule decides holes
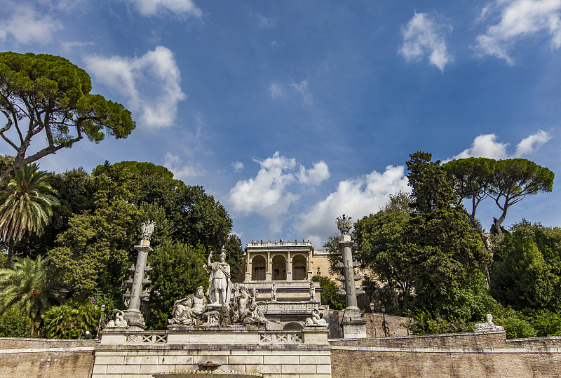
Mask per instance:
[[[0,269],[0,315],[12,309],[32,320],[34,328],[54,299],[48,258],[15,259],[13,269]]]

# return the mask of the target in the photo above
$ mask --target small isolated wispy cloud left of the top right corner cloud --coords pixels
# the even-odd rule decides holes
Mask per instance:
[[[429,62],[443,71],[453,60],[446,50],[445,29],[452,28],[437,24],[426,13],[415,13],[403,30],[400,54],[405,60],[421,60],[428,55]]]

